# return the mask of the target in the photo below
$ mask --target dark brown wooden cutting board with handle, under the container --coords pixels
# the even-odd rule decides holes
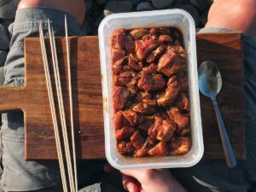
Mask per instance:
[[[241,33],[204,33],[197,34],[196,38],[198,64],[207,60],[214,61],[222,73],[223,89],[218,96],[219,107],[223,113],[236,157],[244,159],[245,122]],[[102,78],[98,38],[72,37],[69,41],[72,55],[77,154],[84,160],[104,159]],[[63,38],[57,38],[56,44],[64,103],[67,103],[65,108],[67,117],[69,117],[65,41]],[[46,46],[48,57],[51,58],[48,40]],[[49,65],[52,72],[50,59]],[[22,88],[0,86],[0,111],[21,109],[24,112],[26,160],[54,160],[57,158],[55,136],[38,38],[26,38],[25,40],[25,79],[26,83]],[[201,96],[201,116],[205,143],[204,157],[224,159],[212,102],[204,96]],[[68,129],[69,123],[69,118],[67,118]]]

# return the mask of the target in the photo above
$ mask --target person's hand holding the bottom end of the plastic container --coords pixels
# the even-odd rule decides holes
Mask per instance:
[[[129,192],[186,192],[166,169],[121,170],[123,185]]]

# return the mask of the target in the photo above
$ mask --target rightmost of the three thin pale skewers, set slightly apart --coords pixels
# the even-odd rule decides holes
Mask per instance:
[[[66,46],[67,46],[67,69],[68,69],[68,90],[69,90],[69,105],[70,105],[70,124],[72,134],[72,146],[73,146],[73,171],[75,177],[75,191],[78,189],[78,173],[77,173],[77,155],[75,146],[75,136],[73,127],[73,96],[72,96],[72,79],[71,79],[71,67],[70,67],[70,53],[68,47],[68,32],[67,32],[67,16],[65,15],[65,33],[66,33]]]

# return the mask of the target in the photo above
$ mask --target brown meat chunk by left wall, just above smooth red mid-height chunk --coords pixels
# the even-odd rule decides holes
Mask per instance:
[[[128,88],[135,88],[137,86],[136,73],[132,71],[126,71],[114,76],[113,84],[118,86],[126,86]]]

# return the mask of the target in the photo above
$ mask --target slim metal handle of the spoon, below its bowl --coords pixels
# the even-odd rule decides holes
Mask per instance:
[[[218,130],[220,133],[220,137],[221,137],[221,141],[222,141],[222,145],[224,148],[224,155],[225,155],[225,159],[226,159],[226,163],[227,166],[229,166],[230,168],[233,168],[236,166],[236,157],[235,154],[233,152],[231,143],[230,143],[230,138],[227,134],[225,125],[224,125],[224,121],[222,119],[222,115],[219,111],[218,108],[218,102],[215,100],[212,100],[213,103],[213,107],[215,109],[215,113],[216,113],[216,117],[218,120]]]

